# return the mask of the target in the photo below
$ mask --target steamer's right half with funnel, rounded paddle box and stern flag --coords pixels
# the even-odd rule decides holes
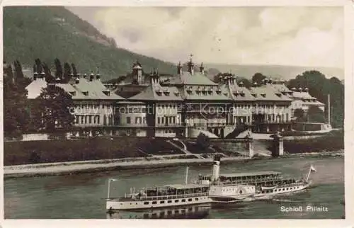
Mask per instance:
[[[215,157],[212,175],[199,175],[196,181],[210,186],[209,197],[218,203],[267,198],[270,195],[304,190],[312,183],[309,181],[310,173],[316,171],[311,166],[306,179],[284,178],[277,171],[219,174],[219,164],[219,157]]]

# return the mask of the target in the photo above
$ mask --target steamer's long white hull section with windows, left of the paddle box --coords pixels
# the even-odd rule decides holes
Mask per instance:
[[[211,200],[207,195],[193,196],[188,198],[171,198],[164,200],[124,200],[108,199],[106,201],[106,210],[139,210],[153,209],[161,207],[178,207],[185,205],[198,205],[202,203],[210,203]]]

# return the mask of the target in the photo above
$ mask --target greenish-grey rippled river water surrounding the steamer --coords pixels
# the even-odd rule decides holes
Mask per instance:
[[[221,173],[242,171],[281,171],[291,176],[304,176],[313,164],[313,186],[292,195],[268,200],[212,205],[205,218],[227,219],[340,219],[344,215],[343,157],[296,157],[261,159],[222,164]],[[210,166],[190,166],[190,179],[198,173],[211,173]],[[72,176],[46,176],[4,180],[4,213],[6,219],[105,219],[108,178],[112,197],[124,195],[131,187],[161,186],[183,183],[185,167],[164,169],[82,173]],[[327,208],[327,211],[307,211]],[[302,211],[287,212],[302,207]],[[295,210],[295,209],[294,209]],[[297,209],[299,210],[299,209]],[[325,210],[325,209],[324,209]]]

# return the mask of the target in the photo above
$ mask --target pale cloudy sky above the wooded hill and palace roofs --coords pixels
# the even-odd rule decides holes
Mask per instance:
[[[163,59],[344,68],[341,7],[70,7],[118,47]]]

